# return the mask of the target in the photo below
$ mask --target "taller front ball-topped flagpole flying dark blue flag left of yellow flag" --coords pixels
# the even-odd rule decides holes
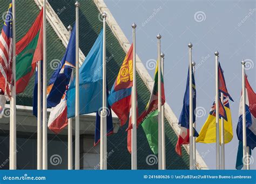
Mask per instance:
[[[193,169],[193,86],[192,86],[192,44],[188,44],[190,57],[190,169]]]

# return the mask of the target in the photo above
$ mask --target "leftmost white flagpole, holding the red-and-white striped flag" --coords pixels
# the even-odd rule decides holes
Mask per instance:
[[[10,116],[10,169],[16,165],[16,2],[12,0],[12,75],[14,85],[11,89],[11,116]]]

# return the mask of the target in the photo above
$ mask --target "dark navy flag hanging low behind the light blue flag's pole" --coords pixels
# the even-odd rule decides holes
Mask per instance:
[[[109,97],[109,91],[107,90],[107,98]],[[108,102],[107,102],[108,103]],[[96,126],[95,126],[95,139],[94,145],[96,146],[100,141],[100,111],[96,112]],[[106,109],[106,121],[107,121],[107,136],[113,133],[113,121],[112,121],[112,112],[110,105],[107,105]]]

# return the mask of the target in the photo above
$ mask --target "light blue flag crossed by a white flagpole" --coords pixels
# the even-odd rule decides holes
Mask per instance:
[[[80,115],[97,112],[102,108],[103,30],[79,68]],[[68,118],[75,116],[76,79],[67,91]]]

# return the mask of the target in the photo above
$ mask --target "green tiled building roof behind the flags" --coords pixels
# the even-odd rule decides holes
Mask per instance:
[[[65,27],[73,25],[75,23],[75,0],[56,1],[48,0],[50,9],[52,8],[57,17],[61,20]],[[1,0],[2,6],[0,6],[0,12],[6,11],[8,3]],[[20,40],[26,31],[29,30],[33,21],[39,13],[40,7],[39,0],[24,0],[16,2],[17,12],[17,40]],[[95,42],[100,30],[102,29],[102,22],[100,21],[100,11],[109,11],[103,1],[85,1],[80,2],[79,8],[79,47],[84,55],[89,53],[90,48]],[[114,80],[118,74],[120,65],[123,62],[126,51],[129,48],[129,42],[122,43],[126,37],[114,29],[120,29],[118,25],[110,25],[110,22],[115,21],[112,16],[108,14],[110,20],[106,26],[106,56],[109,58],[107,62],[107,79],[108,85],[112,87]],[[112,20],[111,20],[112,19]],[[51,77],[53,69],[51,69],[52,60],[61,60],[65,52],[65,43],[60,35],[56,33],[56,29],[52,24],[47,26],[47,68],[48,68],[48,80]],[[0,25],[2,29],[2,25]],[[66,30],[65,30],[66,31]],[[121,31],[122,32],[122,31]],[[121,38],[122,37],[122,38]],[[124,38],[123,38],[124,37]],[[127,40],[127,39],[126,39]],[[139,58],[137,59],[139,60]],[[140,61],[140,60],[139,60]],[[141,62],[141,61],[140,61]],[[139,65],[143,65],[142,62]],[[144,68],[145,69],[145,68]],[[142,77],[142,73],[139,73],[137,67],[137,93],[139,114],[145,109],[146,103],[150,97],[149,88],[152,85],[152,79],[146,72],[147,78]],[[148,80],[151,79],[151,80]],[[24,93],[17,95],[17,104],[32,106],[32,94],[34,86],[34,76],[26,87]],[[168,108],[170,109],[169,105]],[[165,117],[169,117],[168,121],[165,118],[165,131],[166,131],[166,169],[188,169],[189,168],[189,155],[183,147],[183,157],[179,157],[175,152],[175,146],[177,143],[177,132],[173,130],[174,125],[177,124],[177,118],[171,114],[171,109],[167,112]],[[165,111],[166,113],[166,111]],[[175,117],[171,120],[171,117]],[[176,126],[176,125],[175,125]],[[111,157],[108,158],[109,169],[130,169],[131,168],[131,155],[127,151],[127,134],[125,132],[126,126],[120,128],[118,133],[111,135],[107,139],[107,150],[113,150]],[[175,128],[174,128],[175,129]],[[157,164],[149,165],[146,162],[147,156],[153,154],[145,137],[145,133],[142,126],[139,126],[137,131],[137,146],[138,146],[138,169],[157,169]],[[203,163],[204,166],[204,163]]]

